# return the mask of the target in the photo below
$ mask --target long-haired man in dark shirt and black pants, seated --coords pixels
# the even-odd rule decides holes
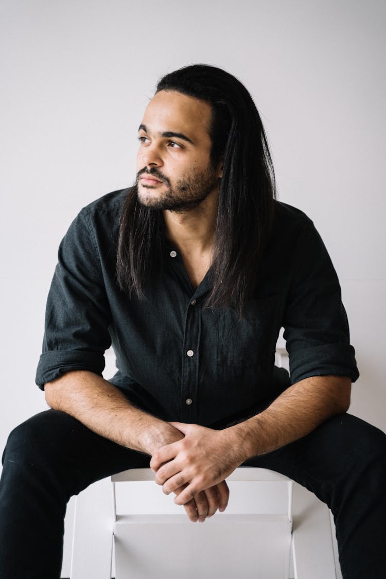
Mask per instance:
[[[275,201],[248,91],[206,65],[164,76],[137,171],[60,245],[36,374],[52,409],[3,455],[0,577],[58,577],[69,497],[149,463],[201,522],[240,464],[282,472],[332,509],[343,576],[384,577],[385,435],[345,413],[358,370],[339,282],[310,219]]]

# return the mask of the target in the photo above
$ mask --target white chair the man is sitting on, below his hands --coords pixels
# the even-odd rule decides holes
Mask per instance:
[[[230,487],[254,481],[256,493],[258,481],[285,481],[286,512],[281,514],[225,512],[202,524],[191,523],[185,512],[118,514],[116,486],[125,483],[130,492],[130,482],[152,479],[150,469],[133,469],[79,494],[71,579],[110,579],[113,549],[116,579],[335,579],[328,508],[286,477],[240,467],[227,479]]]

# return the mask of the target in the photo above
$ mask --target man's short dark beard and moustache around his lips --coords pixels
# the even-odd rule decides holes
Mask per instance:
[[[153,175],[167,185],[168,188],[161,199],[144,202],[144,200],[139,197],[138,179],[144,173]],[[211,167],[208,167],[204,173],[190,179],[181,179],[172,187],[170,179],[160,173],[155,167],[152,167],[149,170],[142,169],[138,171],[135,188],[137,189],[138,202],[144,207],[155,211],[168,210],[176,213],[186,213],[198,207],[204,199],[208,197],[216,182],[218,182],[218,179],[215,177],[214,171]],[[153,189],[152,185],[141,185],[141,187],[144,189]]]

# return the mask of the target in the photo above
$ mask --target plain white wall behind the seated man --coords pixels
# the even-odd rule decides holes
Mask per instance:
[[[382,0],[2,0],[2,448],[46,408],[34,378],[61,238],[133,182],[156,80],[196,62],[251,91],[279,199],[314,220],[340,277],[351,412],[386,430],[385,21]]]

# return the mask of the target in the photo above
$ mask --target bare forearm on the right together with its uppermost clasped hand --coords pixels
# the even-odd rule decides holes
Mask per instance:
[[[293,384],[265,411],[224,430],[172,423],[185,438],[157,450],[150,467],[166,494],[184,504],[200,490],[223,481],[240,464],[302,438],[350,406],[351,379],[314,376]]]

